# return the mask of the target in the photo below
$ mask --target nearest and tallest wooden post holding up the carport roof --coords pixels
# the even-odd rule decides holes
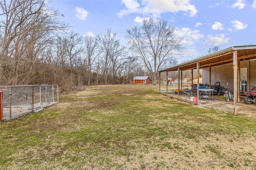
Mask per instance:
[[[234,115],[237,115],[237,81],[238,81],[238,76],[237,76],[237,50],[233,52],[233,66],[234,66]]]

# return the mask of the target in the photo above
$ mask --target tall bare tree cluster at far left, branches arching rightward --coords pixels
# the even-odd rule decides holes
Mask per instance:
[[[66,26],[57,20],[57,11],[46,8],[44,0],[2,0],[0,12],[5,17],[0,21],[0,69],[4,73],[0,81],[28,82],[24,75],[29,74],[36,56],[43,51],[46,35]]]

